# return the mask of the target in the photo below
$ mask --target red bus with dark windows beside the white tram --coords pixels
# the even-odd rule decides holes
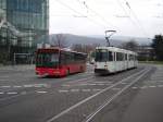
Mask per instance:
[[[66,76],[72,73],[85,72],[86,53],[61,48],[45,48],[36,51],[36,74]]]

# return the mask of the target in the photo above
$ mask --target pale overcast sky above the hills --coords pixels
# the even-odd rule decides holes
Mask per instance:
[[[163,33],[163,0],[50,0],[50,34],[152,38]]]

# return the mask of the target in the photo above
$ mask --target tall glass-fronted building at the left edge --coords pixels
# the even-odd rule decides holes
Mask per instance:
[[[13,26],[0,28],[0,60],[13,60],[14,53],[34,53],[37,42],[48,39],[49,0],[0,0],[0,10]]]

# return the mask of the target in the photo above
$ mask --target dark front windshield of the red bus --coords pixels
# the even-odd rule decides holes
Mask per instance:
[[[58,52],[39,52],[37,53],[36,66],[55,68],[59,65]]]

